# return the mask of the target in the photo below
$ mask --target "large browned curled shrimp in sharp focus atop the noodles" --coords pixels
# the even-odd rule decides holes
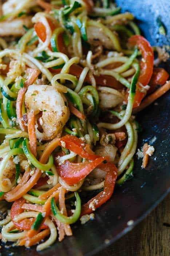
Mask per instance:
[[[35,112],[36,138],[41,140],[55,138],[70,116],[67,99],[49,85],[29,86],[25,94],[25,106],[27,112]]]

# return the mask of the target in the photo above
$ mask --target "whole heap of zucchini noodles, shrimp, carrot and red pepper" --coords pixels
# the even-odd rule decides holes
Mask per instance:
[[[133,177],[132,113],[170,86],[134,15],[120,12],[108,0],[2,1],[3,242],[46,249]]]

